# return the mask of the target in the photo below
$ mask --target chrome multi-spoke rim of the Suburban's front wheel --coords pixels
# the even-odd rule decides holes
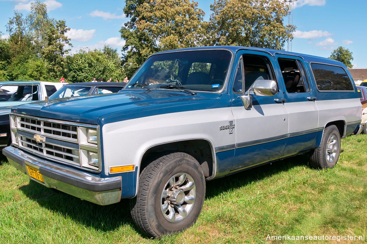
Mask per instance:
[[[164,185],[161,194],[161,211],[168,221],[177,223],[185,219],[196,198],[196,186],[188,173],[178,173]]]

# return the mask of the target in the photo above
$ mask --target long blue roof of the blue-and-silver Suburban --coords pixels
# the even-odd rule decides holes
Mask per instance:
[[[265,52],[268,53],[271,56],[275,56],[276,54],[280,55],[292,55],[292,56],[298,56],[301,57],[305,62],[318,62],[318,63],[327,63],[327,64],[334,64],[339,65],[342,67],[345,67],[345,65],[339,61],[333,60],[333,59],[327,59],[325,57],[318,57],[318,56],[312,56],[302,53],[294,53],[294,52],[287,52],[284,50],[276,50],[276,49],[269,49],[269,48],[256,48],[256,47],[246,47],[246,46],[203,46],[203,47],[196,47],[196,48],[183,48],[183,49],[174,49],[174,50],[168,50],[163,52],[158,52],[155,54],[160,53],[170,53],[170,52],[181,52],[181,51],[189,51],[189,50],[205,50],[205,49],[227,49],[234,53],[238,52],[239,50],[250,50],[250,51],[258,51],[258,52]],[[153,55],[155,55],[153,54]]]

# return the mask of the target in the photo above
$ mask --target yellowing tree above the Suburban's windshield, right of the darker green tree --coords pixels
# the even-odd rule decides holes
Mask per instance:
[[[159,50],[200,46],[204,11],[190,0],[150,0],[137,8],[137,29],[153,38]]]

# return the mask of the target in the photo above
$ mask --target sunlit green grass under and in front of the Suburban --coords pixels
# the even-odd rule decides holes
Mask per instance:
[[[338,164],[313,170],[307,157],[274,162],[207,182],[193,227],[161,240],[133,224],[127,200],[110,206],[54,192],[0,163],[0,243],[338,243],[270,236],[365,235],[367,135],[342,139]]]

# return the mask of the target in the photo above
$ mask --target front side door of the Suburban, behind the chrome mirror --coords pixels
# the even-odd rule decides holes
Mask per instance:
[[[245,109],[241,100],[241,95],[247,94],[255,80],[271,79],[277,82],[273,57],[264,52],[243,50],[238,52],[236,62],[237,68],[229,84],[235,117],[233,131],[236,133],[232,171],[278,159],[288,135],[288,112],[283,103],[282,86],[273,96],[257,96],[250,91],[251,109]]]

